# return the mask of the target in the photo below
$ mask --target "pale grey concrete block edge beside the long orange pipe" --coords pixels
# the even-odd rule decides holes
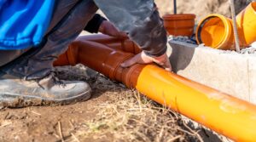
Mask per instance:
[[[174,72],[256,105],[256,54],[169,41]]]

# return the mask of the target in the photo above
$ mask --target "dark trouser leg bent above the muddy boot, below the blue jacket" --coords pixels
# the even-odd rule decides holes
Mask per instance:
[[[0,51],[1,60],[6,53],[11,54],[8,59],[13,60],[1,67],[2,72],[27,80],[47,76],[53,69],[54,60],[79,36],[97,9],[93,0],[57,0],[44,41],[28,51]]]

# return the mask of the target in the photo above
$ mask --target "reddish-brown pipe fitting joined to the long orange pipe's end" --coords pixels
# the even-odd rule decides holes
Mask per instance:
[[[110,37],[109,40],[113,40],[113,38]],[[103,43],[109,43],[109,41],[106,40]],[[132,44],[127,42],[123,46],[129,48]],[[120,67],[121,63],[130,59],[133,55],[115,50],[113,47],[110,48],[102,43],[89,41],[88,38],[83,37],[71,43],[67,52],[61,54],[58,60],[55,60],[54,65],[76,65],[81,63],[101,72],[112,80],[124,82],[129,88],[135,88],[137,77],[144,65],[133,65],[131,68]]]

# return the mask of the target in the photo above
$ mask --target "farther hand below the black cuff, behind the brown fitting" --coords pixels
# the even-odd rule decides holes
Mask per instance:
[[[99,31],[103,34],[106,34],[111,37],[119,37],[119,38],[128,38],[125,32],[119,31],[113,24],[108,21],[104,20],[102,25],[99,28]]]

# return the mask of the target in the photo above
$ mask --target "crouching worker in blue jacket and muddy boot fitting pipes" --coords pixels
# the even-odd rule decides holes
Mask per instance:
[[[114,26],[96,14],[98,8]],[[89,99],[86,82],[59,80],[52,65],[84,29],[120,38],[128,33],[143,52],[122,67],[155,62],[172,70],[153,0],[1,0],[0,104],[66,105]]]

